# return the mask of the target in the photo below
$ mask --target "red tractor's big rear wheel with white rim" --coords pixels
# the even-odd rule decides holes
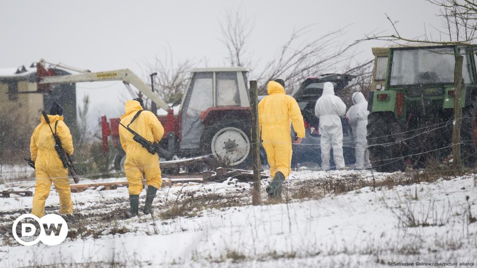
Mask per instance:
[[[202,149],[211,154],[221,166],[247,169],[252,164],[250,127],[223,120],[208,127],[202,138]]]

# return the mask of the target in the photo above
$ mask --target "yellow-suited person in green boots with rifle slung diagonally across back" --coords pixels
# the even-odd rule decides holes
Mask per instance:
[[[128,126],[143,138],[150,142],[158,142],[164,134],[161,123],[150,111],[143,110],[143,100],[136,98],[126,102],[126,113],[121,117],[121,124]],[[159,168],[159,157],[152,155],[140,143],[134,141],[133,135],[125,128],[119,127],[119,138],[121,146],[126,152],[126,162],[124,171],[129,182],[129,204],[131,206],[131,217],[138,216],[139,194],[143,190],[143,174],[146,177],[146,202],[144,214],[152,212],[152,202],[161,187],[161,170]]]

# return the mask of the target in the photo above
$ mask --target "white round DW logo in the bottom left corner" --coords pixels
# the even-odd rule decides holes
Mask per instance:
[[[20,222],[22,219],[27,219],[27,222]],[[21,224],[21,238],[26,240],[22,240],[17,234],[18,223]],[[33,214],[23,214],[13,222],[12,233],[15,240],[24,246],[35,245],[40,241],[46,245],[55,246],[63,242],[68,235],[68,225],[61,216],[56,214],[47,214],[41,219]],[[33,239],[35,236],[38,237]]]

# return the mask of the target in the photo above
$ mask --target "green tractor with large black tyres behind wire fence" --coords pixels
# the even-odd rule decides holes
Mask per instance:
[[[477,46],[390,46],[375,56],[369,94],[367,140],[374,169],[404,170],[440,163],[451,154],[454,64],[462,67],[461,152],[464,166],[477,160]]]

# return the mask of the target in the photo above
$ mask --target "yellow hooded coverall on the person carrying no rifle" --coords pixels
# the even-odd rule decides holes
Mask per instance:
[[[268,82],[268,96],[258,103],[258,120],[261,139],[265,148],[270,176],[273,178],[278,171],[285,179],[290,174],[291,166],[291,135],[290,125],[293,124],[298,138],[304,138],[305,128],[300,107],[296,100],[285,94],[285,89],[275,81]]]

